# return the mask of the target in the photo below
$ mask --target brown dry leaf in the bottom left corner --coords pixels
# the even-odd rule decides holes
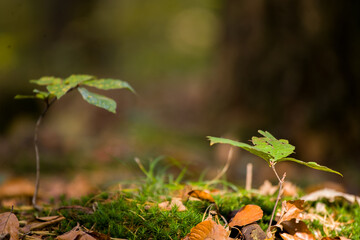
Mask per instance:
[[[19,239],[19,220],[15,214],[11,212],[0,214],[0,230],[4,235],[10,234],[10,240]]]

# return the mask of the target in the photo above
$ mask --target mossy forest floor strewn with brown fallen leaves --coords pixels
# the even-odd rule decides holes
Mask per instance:
[[[185,182],[156,165],[140,165],[145,177],[102,191],[79,180],[70,186],[79,197],[40,196],[41,211],[30,205],[31,186],[4,182],[0,239],[266,239],[278,186]],[[285,182],[272,226],[272,239],[360,239],[360,198],[332,189],[305,194]]]

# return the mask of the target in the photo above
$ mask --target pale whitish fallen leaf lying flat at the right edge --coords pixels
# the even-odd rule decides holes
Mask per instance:
[[[316,192],[312,192],[303,196],[301,199],[304,201],[317,201],[322,198],[328,199],[330,202],[335,201],[336,198],[344,198],[351,203],[357,202],[360,205],[360,197],[352,194],[338,192],[333,189],[324,188]]]

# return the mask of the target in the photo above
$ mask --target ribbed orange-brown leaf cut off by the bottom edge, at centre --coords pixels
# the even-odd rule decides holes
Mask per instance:
[[[189,240],[229,240],[229,232],[221,225],[217,224],[211,219],[205,220],[195,227],[184,238]]]

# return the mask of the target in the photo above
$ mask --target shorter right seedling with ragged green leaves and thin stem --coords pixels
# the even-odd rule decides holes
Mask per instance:
[[[273,212],[271,214],[269,227],[267,229],[267,235],[268,235],[268,237],[270,237],[271,236],[270,227],[272,224],[272,220],[274,218],[277,204],[281,197],[282,185],[283,185],[284,179],[286,177],[286,172],[284,173],[282,178],[279,177],[279,174],[276,172],[276,169],[275,169],[276,163],[284,162],[284,161],[292,161],[292,162],[303,164],[305,166],[308,166],[308,167],[311,167],[311,168],[314,168],[317,170],[336,173],[336,174],[339,174],[340,176],[342,176],[342,174],[337,171],[334,171],[328,167],[321,166],[321,165],[317,164],[316,162],[303,162],[301,160],[288,157],[290,154],[294,153],[294,150],[295,150],[295,147],[293,145],[289,144],[288,140],[276,139],[273,135],[271,135],[267,131],[259,130],[258,132],[263,137],[252,137],[251,141],[252,141],[253,145],[249,145],[249,144],[242,143],[242,142],[237,142],[237,141],[226,139],[226,138],[208,137],[208,139],[210,140],[210,145],[213,145],[216,143],[224,143],[224,144],[230,144],[232,146],[245,149],[246,151],[264,159],[269,164],[269,167],[271,167],[271,169],[274,171],[277,179],[279,180],[279,192],[278,192],[278,195],[276,198]]]

